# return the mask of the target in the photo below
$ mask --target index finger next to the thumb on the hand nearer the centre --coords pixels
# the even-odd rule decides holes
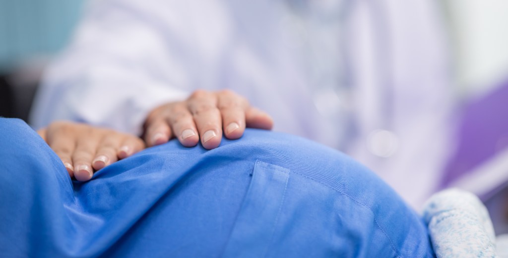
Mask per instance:
[[[218,108],[222,116],[224,134],[229,139],[238,139],[245,130],[247,101],[231,91],[218,94]]]

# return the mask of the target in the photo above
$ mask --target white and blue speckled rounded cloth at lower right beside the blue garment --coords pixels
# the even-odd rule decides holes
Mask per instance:
[[[438,258],[500,257],[489,213],[477,196],[444,190],[427,201],[423,216]]]

